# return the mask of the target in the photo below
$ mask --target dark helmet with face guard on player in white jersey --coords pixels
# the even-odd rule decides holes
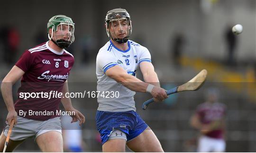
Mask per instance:
[[[128,30],[123,30],[121,27],[120,20],[126,20],[128,24]],[[117,21],[119,26],[120,26],[120,31],[127,31],[127,36],[124,38],[118,38],[117,37],[117,31],[113,29],[113,32],[110,32],[110,25],[113,27],[113,22]],[[130,38],[130,35],[132,33],[132,26],[131,26],[131,21],[130,21],[130,15],[128,14],[127,10],[122,9],[122,8],[115,8],[110,11],[108,11],[107,16],[105,18],[105,23],[106,23],[106,32],[109,37],[115,42],[118,43],[125,43],[128,41]],[[112,34],[110,34],[112,33]],[[114,36],[112,36],[114,35]]]

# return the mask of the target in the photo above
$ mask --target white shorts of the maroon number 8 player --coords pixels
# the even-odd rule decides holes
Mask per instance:
[[[4,135],[7,136],[9,125],[4,129]],[[14,125],[11,131],[10,139],[13,141],[24,140],[28,137],[40,136],[48,131],[61,132],[60,117],[48,119],[45,121],[26,119],[20,116],[17,117],[17,125]]]

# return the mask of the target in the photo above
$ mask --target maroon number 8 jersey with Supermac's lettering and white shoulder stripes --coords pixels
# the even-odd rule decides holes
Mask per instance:
[[[27,50],[15,64],[25,74],[21,79],[18,89],[18,100],[15,102],[15,110],[18,115],[27,119],[47,120],[59,116],[61,98],[46,97],[50,93],[61,93],[64,82],[67,80],[73,67],[74,58],[71,53],[63,50],[57,52],[49,47],[48,42],[42,43],[35,48]],[[52,91],[52,92],[51,92]],[[35,97],[21,98],[20,93],[43,93]],[[24,95],[24,94],[23,94]],[[34,96],[34,98],[32,97]],[[26,116],[20,115],[20,111],[27,112]],[[29,115],[30,112],[54,112],[48,115]]]

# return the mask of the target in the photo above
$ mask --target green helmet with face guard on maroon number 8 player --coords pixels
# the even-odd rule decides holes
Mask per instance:
[[[68,34],[63,31],[63,26],[67,26]],[[51,34],[49,30],[52,29]],[[61,34],[56,34],[56,31],[61,30]],[[47,24],[48,38],[53,41],[60,48],[67,48],[74,42],[74,23],[70,17],[57,15],[52,17]],[[56,36],[61,36],[61,38],[56,39]],[[69,39],[66,40],[64,37],[68,36]],[[52,38],[55,38],[53,40]]]

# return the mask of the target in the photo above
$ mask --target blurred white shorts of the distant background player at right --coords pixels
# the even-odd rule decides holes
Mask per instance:
[[[226,143],[223,139],[201,136],[198,141],[197,152],[225,152]]]

